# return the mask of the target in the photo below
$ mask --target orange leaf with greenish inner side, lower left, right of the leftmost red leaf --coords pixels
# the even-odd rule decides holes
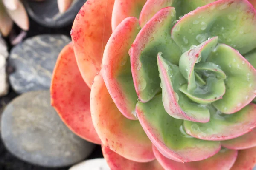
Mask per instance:
[[[127,119],[119,112],[101,72],[94,79],[90,97],[93,125],[103,145],[132,161],[148,162],[155,159],[152,143],[140,122]]]

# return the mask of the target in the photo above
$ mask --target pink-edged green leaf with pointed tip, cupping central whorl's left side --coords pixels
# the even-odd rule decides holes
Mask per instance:
[[[168,63],[158,54],[157,64],[162,80],[163,105],[166,112],[176,119],[185,119],[194,122],[209,122],[210,114],[207,107],[192,102],[179,89],[186,83],[176,65]]]

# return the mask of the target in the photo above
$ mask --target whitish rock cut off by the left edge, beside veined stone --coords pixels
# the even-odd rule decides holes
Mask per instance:
[[[9,84],[6,75],[6,58],[8,57],[7,46],[0,37],[0,96],[8,93]]]

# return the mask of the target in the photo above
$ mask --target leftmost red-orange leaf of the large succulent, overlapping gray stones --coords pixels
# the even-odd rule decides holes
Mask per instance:
[[[100,144],[90,114],[90,88],[76,64],[72,44],[59,54],[52,75],[52,106],[63,122],[81,138]]]

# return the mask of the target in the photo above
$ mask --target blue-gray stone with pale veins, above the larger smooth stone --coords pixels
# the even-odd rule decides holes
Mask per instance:
[[[61,49],[70,42],[64,35],[39,35],[12,48],[9,65],[14,72],[9,75],[12,88],[17,93],[49,89],[52,71]]]

